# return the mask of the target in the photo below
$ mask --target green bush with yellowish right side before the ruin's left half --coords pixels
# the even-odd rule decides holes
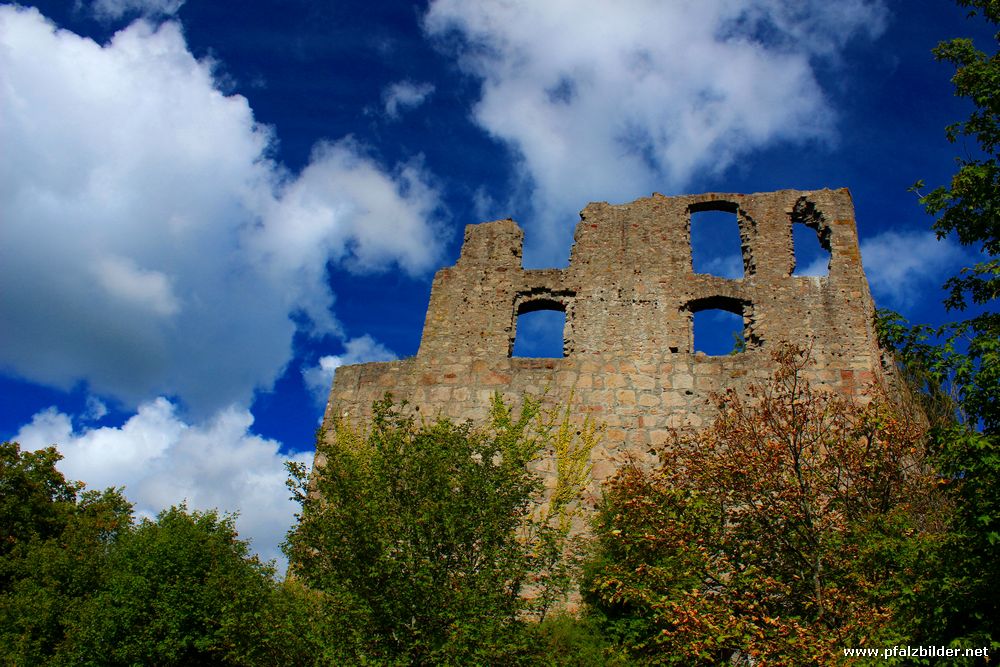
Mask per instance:
[[[367,431],[340,422],[309,476],[286,552],[294,576],[340,614],[340,662],[467,664],[514,660],[526,614],[543,617],[571,582],[573,501],[589,444],[568,421],[494,397],[486,428],[417,423],[390,399]],[[550,415],[551,417],[551,415]],[[594,437],[585,425],[579,435]],[[553,451],[548,504],[532,468]]]

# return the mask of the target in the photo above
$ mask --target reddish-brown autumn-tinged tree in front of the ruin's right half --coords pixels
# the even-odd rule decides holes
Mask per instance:
[[[802,350],[774,358],[606,489],[585,599],[643,662],[817,664],[920,636],[949,544],[923,427],[876,389],[814,390]]]

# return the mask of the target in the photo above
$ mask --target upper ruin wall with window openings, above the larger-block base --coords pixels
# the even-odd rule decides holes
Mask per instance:
[[[693,271],[691,215],[705,210],[736,215],[742,278]],[[828,276],[792,275],[793,223],[816,230],[830,251]],[[509,357],[517,316],[538,309],[565,311],[567,357],[690,354],[692,314],[708,308],[743,317],[748,349],[789,340],[855,359],[873,351],[846,189],[590,204],[565,269],[522,268],[523,237],[509,219],[466,228],[457,264],[434,280],[418,358]]]

